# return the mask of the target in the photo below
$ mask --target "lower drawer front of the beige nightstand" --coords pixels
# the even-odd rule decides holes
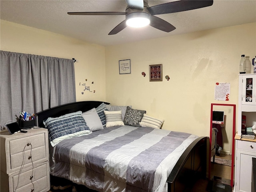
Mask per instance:
[[[50,190],[49,162],[43,162],[9,175],[9,192],[46,192]],[[33,178],[30,180],[30,177]],[[18,185],[18,186],[17,186]]]

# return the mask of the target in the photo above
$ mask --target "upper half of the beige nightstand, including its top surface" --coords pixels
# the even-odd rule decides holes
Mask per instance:
[[[1,132],[1,170],[12,174],[33,164],[48,161],[48,130],[27,130],[27,133]]]

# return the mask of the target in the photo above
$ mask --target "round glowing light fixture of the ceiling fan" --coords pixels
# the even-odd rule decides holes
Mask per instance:
[[[133,12],[126,15],[126,25],[140,28],[150,24],[150,14],[146,12]]]

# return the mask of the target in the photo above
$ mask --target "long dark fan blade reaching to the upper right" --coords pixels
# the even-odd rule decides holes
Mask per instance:
[[[180,0],[148,7],[148,11],[152,15],[160,15],[208,7],[212,4],[213,0]]]

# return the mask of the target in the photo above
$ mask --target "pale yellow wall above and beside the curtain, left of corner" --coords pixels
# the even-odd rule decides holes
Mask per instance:
[[[1,20],[0,24],[1,50],[58,58],[75,58],[79,60],[74,64],[76,100],[106,100],[104,46],[88,44],[78,39],[4,20]],[[90,86],[92,92],[84,91],[83,83]]]

